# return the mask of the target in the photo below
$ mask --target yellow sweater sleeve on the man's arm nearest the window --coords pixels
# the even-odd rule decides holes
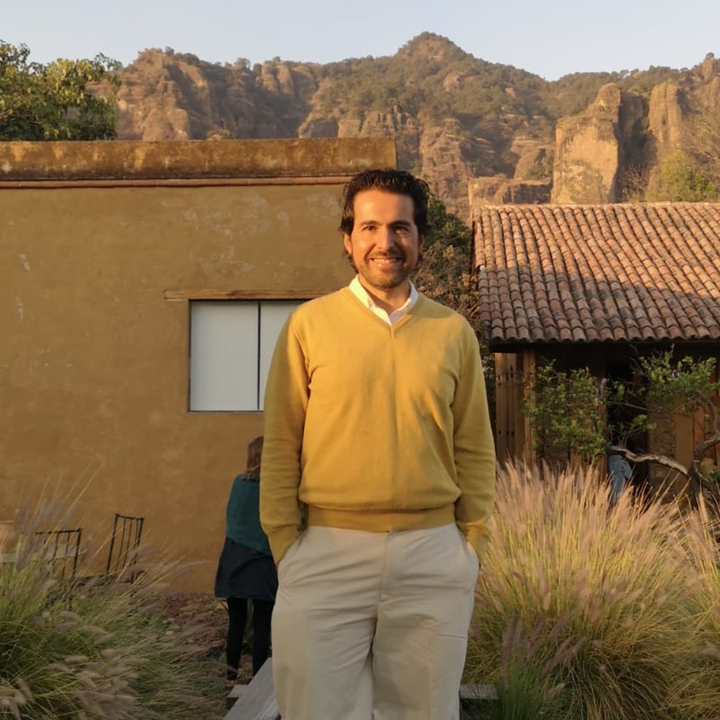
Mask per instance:
[[[300,454],[309,379],[305,352],[285,323],[270,364],[265,389],[260,521],[278,564],[300,534]]]

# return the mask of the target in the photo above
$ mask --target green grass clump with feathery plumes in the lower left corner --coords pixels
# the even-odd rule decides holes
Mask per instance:
[[[200,627],[161,611],[173,567],[161,561],[130,585],[58,580],[27,557],[0,565],[0,718],[221,716]]]

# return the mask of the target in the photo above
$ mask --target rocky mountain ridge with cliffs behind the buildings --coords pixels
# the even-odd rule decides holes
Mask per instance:
[[[652,168],[680,147],[688,114],[720,107],[711,55],[690,70],[548,82],[431,33],[390,57],[326,65],[220,65],[145,50],[121,76],[121,139],[394,135],[400,166],[461,217],[468,186],[485,202],[616,202],[630,170],[635,185],[641,176],[652,187]]]

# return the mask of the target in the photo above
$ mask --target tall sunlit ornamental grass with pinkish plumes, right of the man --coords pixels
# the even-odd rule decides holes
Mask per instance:
[[[466,682],[508,720],[717,720],[720,580],[708,513],[611,507],[597,470],[500,469]],[[503,700],[504,698],[504,700]]]

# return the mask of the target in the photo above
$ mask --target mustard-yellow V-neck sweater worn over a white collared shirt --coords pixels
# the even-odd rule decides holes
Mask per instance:
[[[260,514],[280,562],[310,525],[387,532],[456,522],[478,557],[495,448],[477,340],[420,294],[394,325],[348,288],[292,313],[265,394]]]

